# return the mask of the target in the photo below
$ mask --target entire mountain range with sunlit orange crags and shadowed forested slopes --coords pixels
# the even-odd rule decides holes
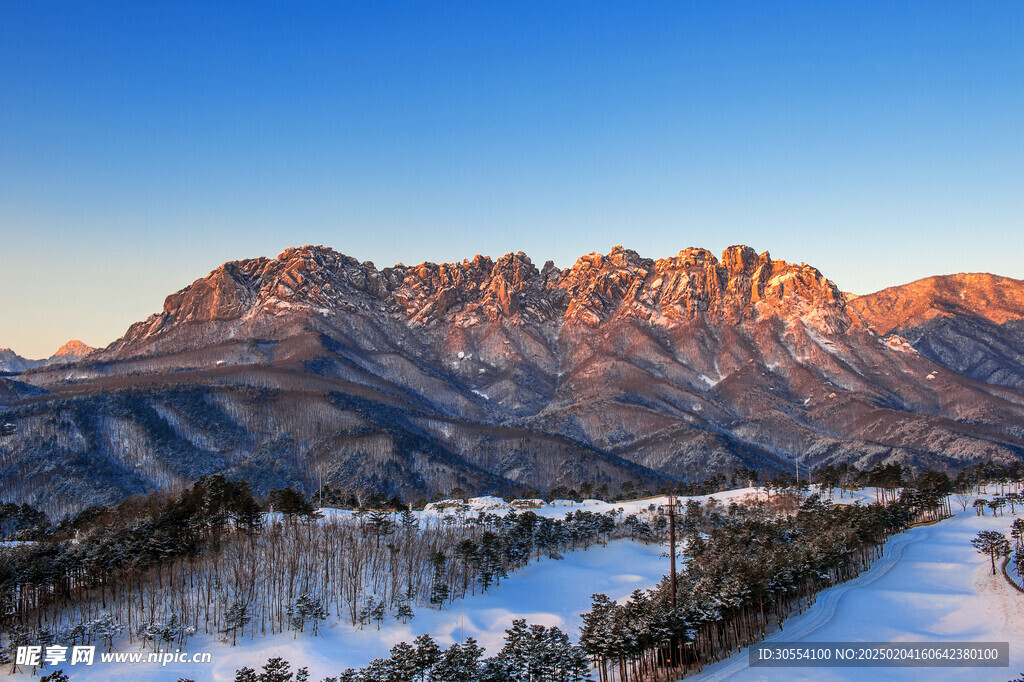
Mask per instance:
[[[11,368],[17,369],[17,368]],[[225,263],[110,346],[0,379],[0,495],[53,512],[223,472],[407,498],[1024,456],[1024,282],[844,294],[745,246],[569,268]]]

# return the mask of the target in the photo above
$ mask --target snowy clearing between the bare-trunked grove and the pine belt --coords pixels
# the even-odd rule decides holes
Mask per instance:
[[[460,637],[474,637],[486,648],[486,655],[492,655],[501,648],[505,629],[514,619],[558,626],[578,636],[580,615],[590,610],[592,594],[603,592],[620,599],[635,589],[652,587],[668,572],[668,555],[662,556],[665,551],[657,545],[616,541],[607,547],[566,553],[561,560],[544,559],[516,571],[486,594],[456,601],[443,611],[420,608],[409,624],[392,620],[380,631],[375,626],[360,631],[347,623],[335,623],[323,627],[319,637],[306,633],[297,639],[290,634],[246,639],[233,648],[209,638],[193,638],[188,643],[190,652],[213,653],[213,663],[208,666],[108,664],[85,669],[65,666],[63,670],[73,680],[83,682],[168,682],[179,676],[197,682],[231,680],[236,669],[249,666],[258,670],[269,656],[281,655],[292,662],[293,670],[308,666],[310,678],[321,680],[348,667],[366,666],[386,655],[397,642],[412,642],[424,632],[442,645],[459,641]]]

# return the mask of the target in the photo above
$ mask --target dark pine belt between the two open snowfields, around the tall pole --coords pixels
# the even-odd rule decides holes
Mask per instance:
[[[675,591],[666,578],[625,603],[594,595],[580,645],[602,682],[674,680],[731,655],[867,568],[891,535],[948,515],[944,474],[913,482],[867,506],[811,495],[795,513],[691,500],[678,524],[686,562]]]

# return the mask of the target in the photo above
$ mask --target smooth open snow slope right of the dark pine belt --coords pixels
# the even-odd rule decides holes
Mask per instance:
[[[1008,510],[1009,512],[1009,510]],[[1007,532],[1014,517],[973,510],[889,540],[886,556],[856,580],[822,592],[768,641],[1010,642],[1010,668],[748,668],[744,649],[701,680],[964,680],[1016,678],[1024,672],[1024,594],[1010,587],[971,540]]]

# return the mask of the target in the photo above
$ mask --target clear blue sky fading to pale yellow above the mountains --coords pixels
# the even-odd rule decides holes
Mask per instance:
[[[1019,2],[7,0],[0,346],[307,243],[1024,278],[1021,35]]]

